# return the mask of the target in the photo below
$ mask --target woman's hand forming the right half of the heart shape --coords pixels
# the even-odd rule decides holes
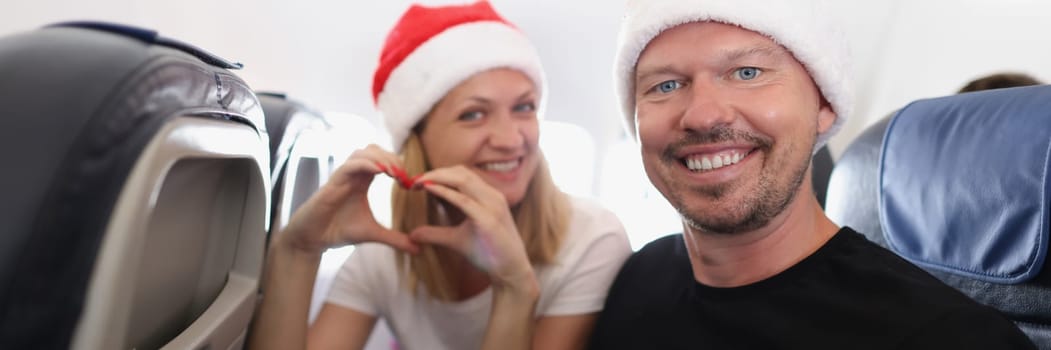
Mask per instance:
[[[497,287],[518,291],[537,288],[536,274],[503,193],[462,165],[424,173],[414,187],[423,187],[456,206],[466,219],[452,227],[417,227],[410,234],[413,241],[460,252],[488,272]]]

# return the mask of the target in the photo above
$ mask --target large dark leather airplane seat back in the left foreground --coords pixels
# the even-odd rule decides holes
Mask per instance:
[[[0,348],[242,347],[269,155],[239,67],[119,24],[0,38]]]

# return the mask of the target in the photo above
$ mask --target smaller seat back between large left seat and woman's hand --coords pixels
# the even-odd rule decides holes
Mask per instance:
[[[270,234],[285,227],[332,172],[331,126],[325,117],[285,95],[257,92],[270,136]]]

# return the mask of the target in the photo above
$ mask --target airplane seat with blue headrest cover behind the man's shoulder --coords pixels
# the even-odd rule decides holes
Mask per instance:
[[[905,106],[847,148],[827,204],[1051,349],[1051,86]]]

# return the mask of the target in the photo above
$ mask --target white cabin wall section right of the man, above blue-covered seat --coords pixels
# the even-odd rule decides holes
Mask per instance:
[[[982,76],[1016,71],[1051,82],[1051,2],[923,0],[840,3],[857,66],[854,115],[830,142],[839,155],[872,122]]]

